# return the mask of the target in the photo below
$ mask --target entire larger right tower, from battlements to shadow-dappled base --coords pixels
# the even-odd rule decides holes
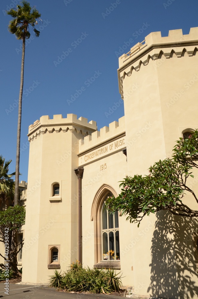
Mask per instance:
[[[148,174],[154,162],[171,157],[176,140],[198,128],[197,67],[198,28],[186,35],[181,29],[165,37],[150,33],[119,58],[126,140],[132,144],[127,149],[128,176]],[[198,194],[198,173],[193,174],[189,183]],[[185,199],[189,204],[191,199]],[[197,210],[196,201],[190,206]],[[197,298],[196,217],[156,213],[145,217],[140,228],[133,226],[133,238],[140,238],[133,248],[135,294]]]

